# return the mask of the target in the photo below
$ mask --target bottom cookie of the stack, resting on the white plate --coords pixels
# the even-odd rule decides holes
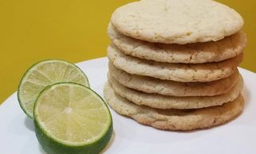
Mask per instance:
[[[132,117],[144,125],[167,130],[206,129],[220,125],[240,114],[244,106],[240,94],[233,102],[227,102],[223,106],[197,110],[158,110],[148,106],[137,106],[121,98],[108,83],[104,86],[104,97],[117,113]]]

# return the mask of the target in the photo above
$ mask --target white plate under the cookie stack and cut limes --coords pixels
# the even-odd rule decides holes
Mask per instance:
[[[77,64],[89,77],[93,90],[103,96],[108,60],[100,58]],[[114,133],[105,154],[255,154],[256,153],[256,74],[244,69],[244,112],[229,123],[192,132],[168,132],[140,125],[113,110]],[[45,153],[33,132],[33,121],[23,114],[14,93],[0,106],[0,153]]]

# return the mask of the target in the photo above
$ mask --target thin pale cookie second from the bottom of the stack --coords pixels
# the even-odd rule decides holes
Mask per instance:
[[[121,86],[111,76],[108,76],[108,82],[112,85],[116,94],[127,98],[136,105],[150,106],[157,109],[199,109],[209,106],[221,106],[225,102],[233,101],[242,91],[243,82],[239,78],[238,83],[226,94],[216,96],[191,96],[175,97],[164,96],[161,94],[148,94],[128,87]]]

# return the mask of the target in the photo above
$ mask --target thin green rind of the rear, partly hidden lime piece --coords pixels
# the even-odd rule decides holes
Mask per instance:
[[[61,62],[61,63],[67,64],[67,65],[69,65],[69,66],[72,66],[72,67],[77,68],[77,70],[80,71],[81,74],[82,74],[82,75],[84,76],[84,78],[85,78],[85,84],[86,84],[85,86],[90,87],[90,85],[89,85],[89,80],[88,80],[88,77],[85,75],[85,72],[82,71],[80,67],[77,67],[77,65],[72,64],[72,63],[70,63],[70,62],[68,62],[68,61],[66,61],[66,60],[42,60],[42,61],[40,61],[40,62],[38,62],[38,63],[36,63],[36,64],[33,64],[33,65],[25,72],[25,74],[22,76],[21,82],[20,82],[19,85],[18,85],[18,93],[17,93],[19,105],[21,106],[23,112],[24,112],[28,117],[30,117],[30,118],[33,118],[33,112],[30,112],[29,110],[26,109],[25,103],[22,102],[22,99],[21,99],[22,97],[21,97],[21,95],[20,95],[20,93],[21,93],[20,90],[21,90],[21,87],[22,87],[22,83],[24,83],[24,80],[26,79],[26,77],[27,77],[28,75],[30,75],[30,72],[33,71],[33,68],[37,67],[39,64],[45,64],[45,63],[49,63],[49,62]],[[35,97],[35,98],[37,98],[37,97]],[[33,102],[33,103],[34,103],[34,102]]]

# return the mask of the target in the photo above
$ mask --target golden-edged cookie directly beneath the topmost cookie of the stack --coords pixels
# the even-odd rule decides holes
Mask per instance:
[[[223,40],[195,44],[154,44],[126,37],[108,25],[108,36],[120,51],[141,59],[166,63],[202,64],[219,62],[242,53],[246,35],[235,33]]]

